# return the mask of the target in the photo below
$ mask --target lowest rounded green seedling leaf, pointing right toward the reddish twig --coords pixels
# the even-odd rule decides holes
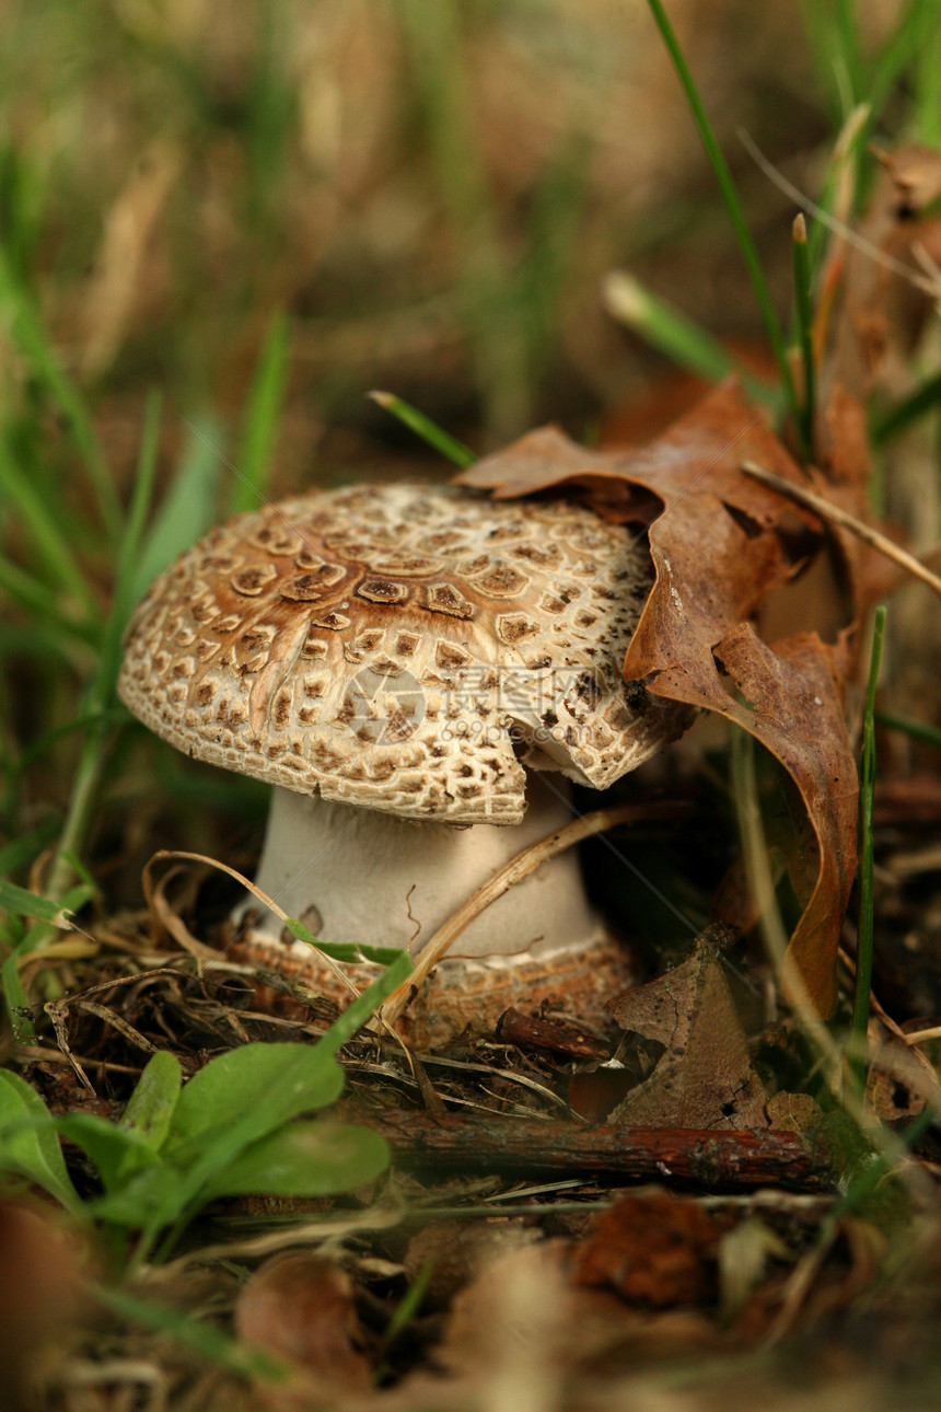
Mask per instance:
[[[254,1142],[205,1187],[207,1197],[334,1196],[389,1165],[385,1138],[351,1123],[293,1123]]]

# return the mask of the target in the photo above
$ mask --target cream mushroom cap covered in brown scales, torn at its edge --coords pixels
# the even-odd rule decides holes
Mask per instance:
[[[119,690],[198,760],[411,819],[518,823],[688,723],[625,686],[646,541],[564,500],[357,486],[238,515],[154,580]]]

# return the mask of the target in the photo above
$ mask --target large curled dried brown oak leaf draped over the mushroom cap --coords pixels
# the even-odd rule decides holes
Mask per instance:
[[[762,414],[725,384],[639,449],[593,452],[547,426],[457,479],[499,500],[564,489],[607,520],[648,527],[656,582],[628,648],[625,679],[736,722],[794,779],[814,834],[815,881],[806,885],[806,867],[791,877],[803,915],[787,960],[817,1010],[830,1014],[856,860],[844,645],[803,633],[769,647],[751,626],[769,590],[796,572],[787,552],[794,525],[808,530],[817,521],[742,476],[743,460],[800,483]]]

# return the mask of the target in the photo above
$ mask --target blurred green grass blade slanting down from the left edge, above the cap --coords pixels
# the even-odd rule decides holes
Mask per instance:
[[[0,250],[0,308],[6,308],[13,337],[65,417],[72,441],[85,463],[102,524],[111,542],[117,544],[121,537],[124,514],[90,412],[85,398],[62,367],[42,319],[32,305],[30,292],[17,280],[3,250]]]

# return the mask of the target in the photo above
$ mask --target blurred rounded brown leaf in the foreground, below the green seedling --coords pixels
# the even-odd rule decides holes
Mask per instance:
[[[371,1385],[350,1279],[320,1255],[292,1251],[255,1271],[236,1305],[236,1333],[295,1370],[269,1388],[278,1406],[333,1406]]]

